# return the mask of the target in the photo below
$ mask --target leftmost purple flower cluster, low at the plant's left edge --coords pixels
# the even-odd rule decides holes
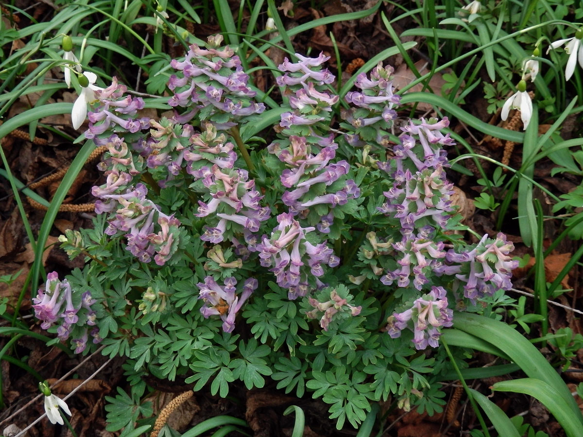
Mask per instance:
[[[73,304],[75,291],[66,279],[59,280],[57,272],[47,274],[47,282],[44,287],[38,289],[37,296],[33,298],[34,315],[42,320],[42,329],[49,329],[57,324],[57,336],[60,340],[66,340],[73,329],[80,332],[78,339],[73,339],[76,346],[75,353],[85,350],[87,344],[87,326],[96,325],[96,313],[91,308],[96,301],[91,293],[85,291],[78,304]],[[76,299],[75,299],[76,300]],[[92,330],[93,343],[99,343],[99,329]]]

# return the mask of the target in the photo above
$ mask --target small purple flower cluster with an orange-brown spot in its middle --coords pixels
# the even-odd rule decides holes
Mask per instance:
[[[221,287],[212,276],[205,277],[204,283],[196,284],[199,289],[198,298],[205,302],[201,308],[202,315],[205,319],[209,316],[220,315],[223,319],[224,332],[233,332],[237,312],[257,288],[258,282],[254,278],[245,280],[240,295],[236,294],[236,285],[237,280],[234,277],[228,277],[224,280],[224,286]]]

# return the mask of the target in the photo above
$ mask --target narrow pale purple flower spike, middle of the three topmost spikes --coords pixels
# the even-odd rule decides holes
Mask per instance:
[[[320,121],[329,121],[332,105],[338,103],[338,96],[332,96],[318,90],[324,84],[334,82],[334,75],[328,69],[319,70],[324,62],[330,59],[321,53],[318,58],[306,58],[296,54],[300,62],[293,64],[285,58],[279,70],[285,75],[276,80],[279,86],[286,87],[289,103],[293,111],[281,116],[280,126],[289,129],[292,126],[314,125]]]

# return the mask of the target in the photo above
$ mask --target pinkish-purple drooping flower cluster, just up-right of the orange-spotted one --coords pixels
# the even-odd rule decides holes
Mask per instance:
[[[315,228],[301,227],[293,214],[279,214],[278,223],[271,238],[264,236],[258,245],[259,258],[262,266],[273,267],[271,272],[275,274],[280,287],[288,288],[288,297],[296,299],[305,296],[310,287],[313,288],[311,277],[315,278],[316,286],[323,285],[318,280],[324,274],[322,264],[335,267],[340,260],[326,242],[317,245],[308,242],[305,234]]]

